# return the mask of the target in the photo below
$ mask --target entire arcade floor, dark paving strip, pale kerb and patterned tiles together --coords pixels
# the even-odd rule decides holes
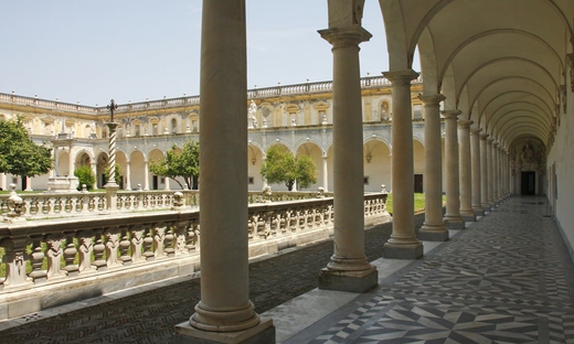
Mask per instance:
[[[251,265],[251,299],[278,343],[574,343],[574,265],[545,211],[511,198],[415,261],[380,258],[391,226],[370,229],[380,284],[363,294],[316,289],[332,243],[284,252]],[[169,343],[199,279],[128,293],[0,323],[0,343]]]

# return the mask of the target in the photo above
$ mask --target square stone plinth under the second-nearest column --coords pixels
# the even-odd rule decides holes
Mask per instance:
[[[362,271],[338,271],[329,268],[319,272],[319,289],[365,292],[379,283],[379,271],[371,266]]]

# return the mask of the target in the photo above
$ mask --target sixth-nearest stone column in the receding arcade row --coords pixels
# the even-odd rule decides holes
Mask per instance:
[[[477,221],[472,211],[472,170],[470,165],[470,126],[471,120],[458,121],[458,169],[460,181],[460,216],[465,222]]]

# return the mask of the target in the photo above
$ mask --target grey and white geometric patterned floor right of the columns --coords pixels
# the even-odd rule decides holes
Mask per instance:
[[[286,343],[574,343],[574,265],[517,197]]]

